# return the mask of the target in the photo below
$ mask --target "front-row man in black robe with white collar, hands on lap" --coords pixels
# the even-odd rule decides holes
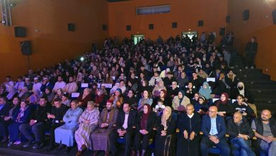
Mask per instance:
[[[192,104],[186,107],[187,113],[178,117],[177,151],[176,155],[200,155],[200,114],[195,111]]]

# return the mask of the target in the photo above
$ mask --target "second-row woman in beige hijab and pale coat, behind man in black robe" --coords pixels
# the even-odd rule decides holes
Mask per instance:
[[[190,104],[190,99],[181,90],[178,92],[178,96],[174,96],[172,107],[175,111],[185,111],[188,104]]]

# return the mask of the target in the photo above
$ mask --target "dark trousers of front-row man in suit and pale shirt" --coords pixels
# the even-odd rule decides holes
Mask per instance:
[[[133,131],[129,131],[125,134],[125,156],[130,156],[130,145],[132,143]],[[110,151],[111,155],[115,156],[117,154],[117,140],[120,138],[119,133],[116,130],[110,134]]]

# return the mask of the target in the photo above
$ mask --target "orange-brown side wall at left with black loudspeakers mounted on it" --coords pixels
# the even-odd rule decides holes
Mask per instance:
[[[25,0],[12,9],[13,26],[0,26],[0,82],[6,75],[16,79],[28,70],[20,42],[31,40],[30,68],[49,67],[66,58],[91,50],[91,43],[102,43],[108,31],[108,2],[98,0]],[[67,24],[76,30],[69,32]],[[27,28],[26,38],[14,37],[14,26]],[[38,30],[38,31],[35,31]]]

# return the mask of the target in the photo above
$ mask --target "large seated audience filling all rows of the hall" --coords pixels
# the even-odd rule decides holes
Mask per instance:
[[[76,146],[76,155],[117,155],[120,144],[125,156],[208,155],[213,147],[223,156],[276,155],[271,111],[257,116],[254,96],[229,67],[231,52],[213,41],[106,39],[81,59],[30,69],[16,82],[7,76],[1,142]]]

